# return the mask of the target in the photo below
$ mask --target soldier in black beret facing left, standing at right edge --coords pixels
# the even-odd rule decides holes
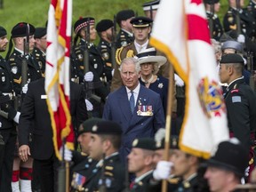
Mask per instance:
[[[252,142],[255,140],[256,95],[242,76],[243,58],[236,53],[222,56],[220,60],[220,82],[227,83],[224,99],[228,110],[228,128],[230,137],[236,137],[246,148],[248,162],[254,167]],[[249,155],[250,152],[250,155]]]

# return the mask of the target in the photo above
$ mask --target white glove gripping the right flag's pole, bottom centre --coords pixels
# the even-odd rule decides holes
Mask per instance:
[[[167,180],[171,175],[172,162],[159,161],[156,164],[156,169],[153,172],[153,177],[155,180]]]

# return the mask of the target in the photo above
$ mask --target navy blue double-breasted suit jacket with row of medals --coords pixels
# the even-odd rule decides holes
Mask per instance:
[[[153,116],[138,116],[141,106],[152,106]],[[122,126],[123,144],[121,156],[127,156],[136,138],[154,137],[159,128],[165,127],[164,109],[158,93],[140,85],[138,100],[132,114],[125,86],[108,95],[103,111],[103,118],[114,121]]]

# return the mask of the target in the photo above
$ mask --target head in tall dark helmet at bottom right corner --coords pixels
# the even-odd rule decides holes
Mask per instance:
[[[206,164],[204,178],[210,191],[234,191],[241,184],[248,164],[246,149],[236,138],[222,141]]]

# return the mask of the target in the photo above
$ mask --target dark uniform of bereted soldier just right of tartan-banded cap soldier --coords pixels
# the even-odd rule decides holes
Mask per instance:
[[[98,44],[98,50],[100,51],[101,57],[106,62],[105,74],[107,76],[107,81],[112,80],[112,55],[111,55],[111,43],[108,43],[104,39],[100,38],[100,43]]]

